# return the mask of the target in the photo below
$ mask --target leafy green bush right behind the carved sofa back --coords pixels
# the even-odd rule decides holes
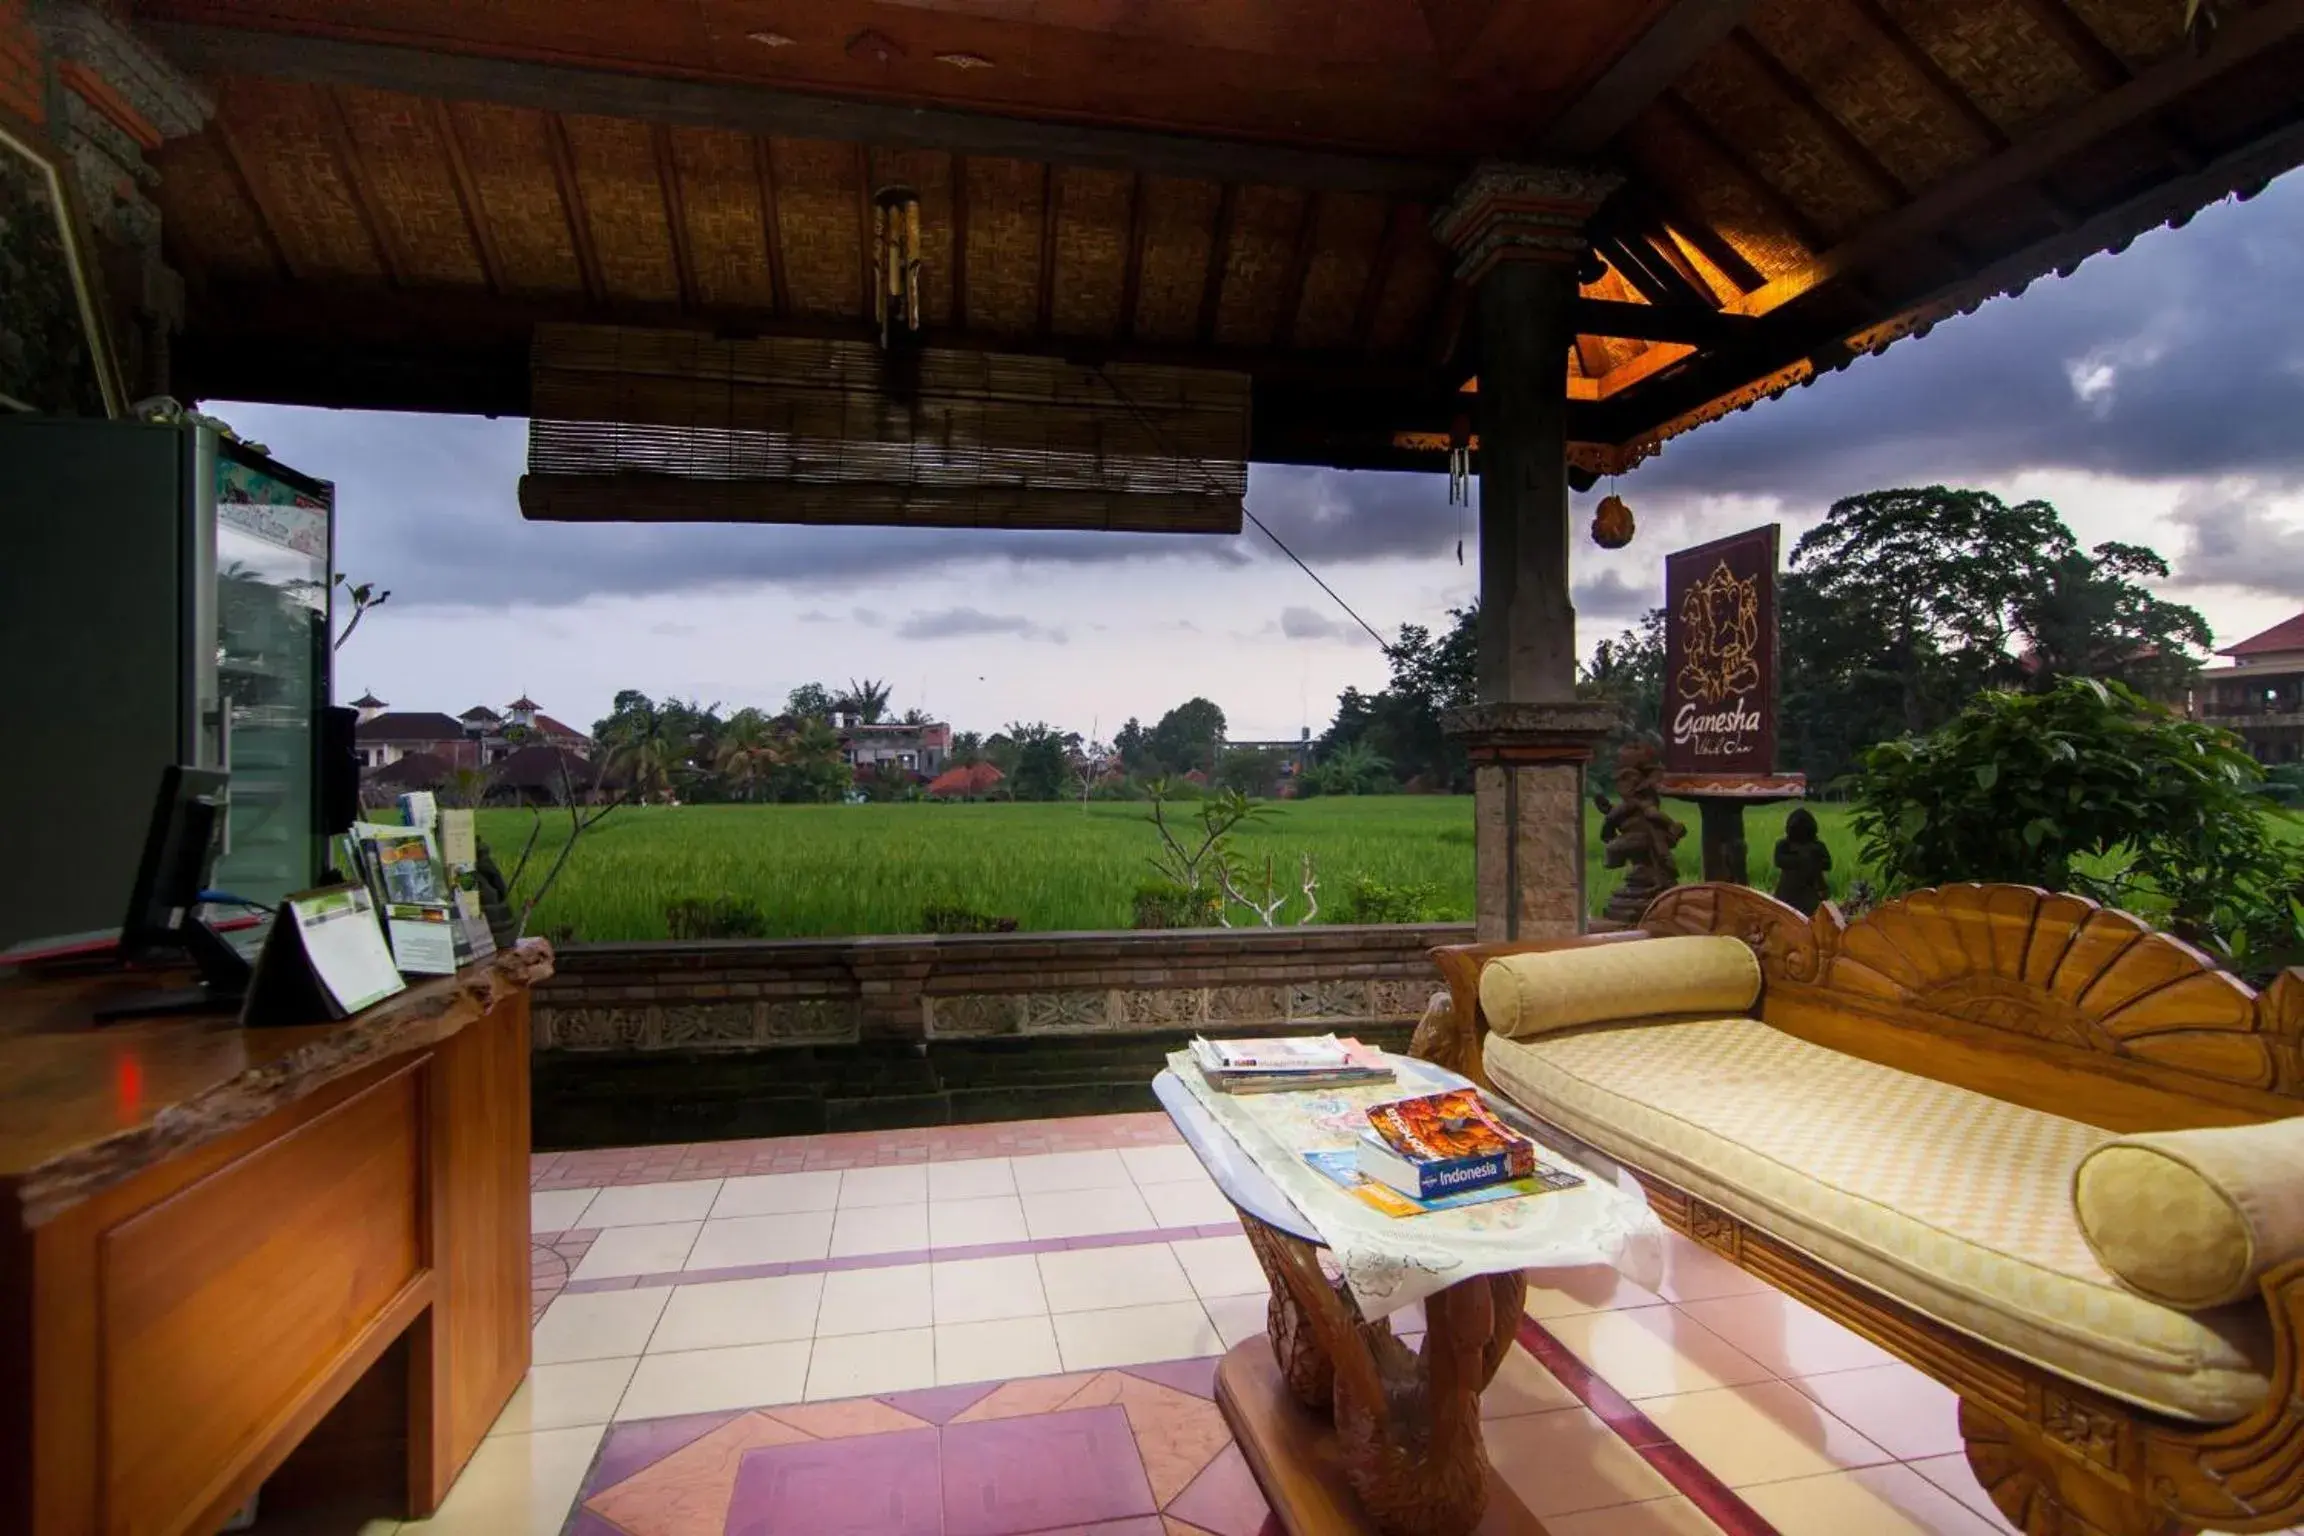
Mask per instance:
[[[2304,861],[2258,815],[2260,778],[2235,737],[2074,677],[1981,693],[1933,735],[1873,746],[1852,820],[1892,889],[2081,891],[2244,960],[2304,940]]]

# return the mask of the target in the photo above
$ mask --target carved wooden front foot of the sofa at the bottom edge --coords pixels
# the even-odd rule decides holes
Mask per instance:
[[[2101,1423],[2097,1423],[2101,1419]],[[2122,1467],[2122,1425],[2085,1405],[2051,1402],[2046,1430],[2014,1428],[1961,1402],[1968,1469],[2023,1536],[2189,1536]]]

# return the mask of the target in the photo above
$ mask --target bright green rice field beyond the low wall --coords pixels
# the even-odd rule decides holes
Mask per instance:
[[[1673,801],[1689,827],[1680,845],[1696,877],[1696,806]],[[1832,894],[1857,873],[1841,806],[1813,806],[1832,847]],[[1180,813],[1180,815],[1177,815]],[[1753,873],[1783,831],[1790,806],[1744,815]],[[776,937],[919,933],[922,910],[952,903],[1014,917],[1025,930],[1127,928],[1136,884],[1152,875],[1150,808],[1081,804],[880,804],[880,806],[624,806],[583,836],[530,933],[576,940],[668,937],[664,910],[694,896],[742,896]],[[1196,824],[1175,806],[1173,824]],[[564,811],[546,811],[521,887],[535,887],[567,841]],[[479,834],[511,864],[530,834],[525,811],[482,811]],[[1585,815],[1587,887],[1597,912],[1622,870],[1604,870],[1599,818]],[[1320,917],[1336,921],[1352,875],[1389,887],[1428,887],[1435,919],[1472,917],[1470,797],[1348,797],[1274,806],[1237,838],[1256,868],[1272,854],[1276,880],[1295,889],[1304,854],[1320,877]],[[1772,884],[1772,877],[1769,877]],[[1281,921],[1293,921],[1293,900]],[[1253,921],[1235,910],[1235,923]]]

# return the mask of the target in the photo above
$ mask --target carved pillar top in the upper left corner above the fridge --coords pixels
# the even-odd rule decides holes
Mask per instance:
[[[198,134],[214,101],[94,0],[32,0],[58,104],[48,134],[71,164],[94,233],[113,345],[131,401],[168,394],[168,341],[184,325],[184,283],[161,260],[159,170],[145,154]]]

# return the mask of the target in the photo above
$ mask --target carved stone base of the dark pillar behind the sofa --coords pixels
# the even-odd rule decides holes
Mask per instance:
[[[1449,735],[1472,758],[1481,944],[1585,930],[1585,765],[1613,725],[1613,705],[1583,700],[1449,714]]]

